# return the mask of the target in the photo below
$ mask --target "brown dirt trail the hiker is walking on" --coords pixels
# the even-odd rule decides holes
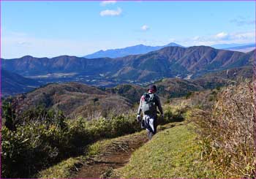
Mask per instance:
[[[162,127],[159,131],[171,128],[176,125]],[[124,167],[128,163],[132,152],[148,142],[146,132],[132,137],[124,137],[121,140],[113,140],[105,151],[99,156],[86,161],[83,167],[75,174],[74,178],[105,178],[108,172],[119,167]]]

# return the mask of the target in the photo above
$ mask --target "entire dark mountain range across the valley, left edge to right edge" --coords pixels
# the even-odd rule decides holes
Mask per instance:
[[[122,58],[25,56],[2,60],[12,72],[49,82],[78,81],[105,86],[120,83],[152,83],[165,77],[195,78],[209,72],[252,66],[255,50],[241,53],[207,46],[164,47],[150,53]]]

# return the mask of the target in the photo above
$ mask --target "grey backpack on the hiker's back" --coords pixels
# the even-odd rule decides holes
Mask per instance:
[[[154,115],[157,114],[157,96],[156,94],[145,93],[142,96],[141,110],[143,114]]]

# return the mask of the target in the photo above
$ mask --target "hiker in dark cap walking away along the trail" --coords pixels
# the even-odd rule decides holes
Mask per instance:
[[[148,93],[143,94],[140,98],[140,106],[138,108],[137,121],[140,122],[140,111],[143,112],[143,120],[141,121],[141,127],[146,128],[148,132],[148,139],[151,140],[154,134],[157,133],[157,107],[161,113],[161,117],[164,118],[162,112],[162,106],[157,94],[157,86],[151,85],[148,88]]]

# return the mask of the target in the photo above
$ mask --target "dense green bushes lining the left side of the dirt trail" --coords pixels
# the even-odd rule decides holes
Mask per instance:
[[[172,115],[167,110],[165,119],[159,122],[171,122]],[[134,113],[113,115],[111,119],[67,120],[60,111],[37,107],[19,117],[14,131],[3,126],[1,176],[31,178],[62,159],[83,154],[91,142],[140,130]]]

